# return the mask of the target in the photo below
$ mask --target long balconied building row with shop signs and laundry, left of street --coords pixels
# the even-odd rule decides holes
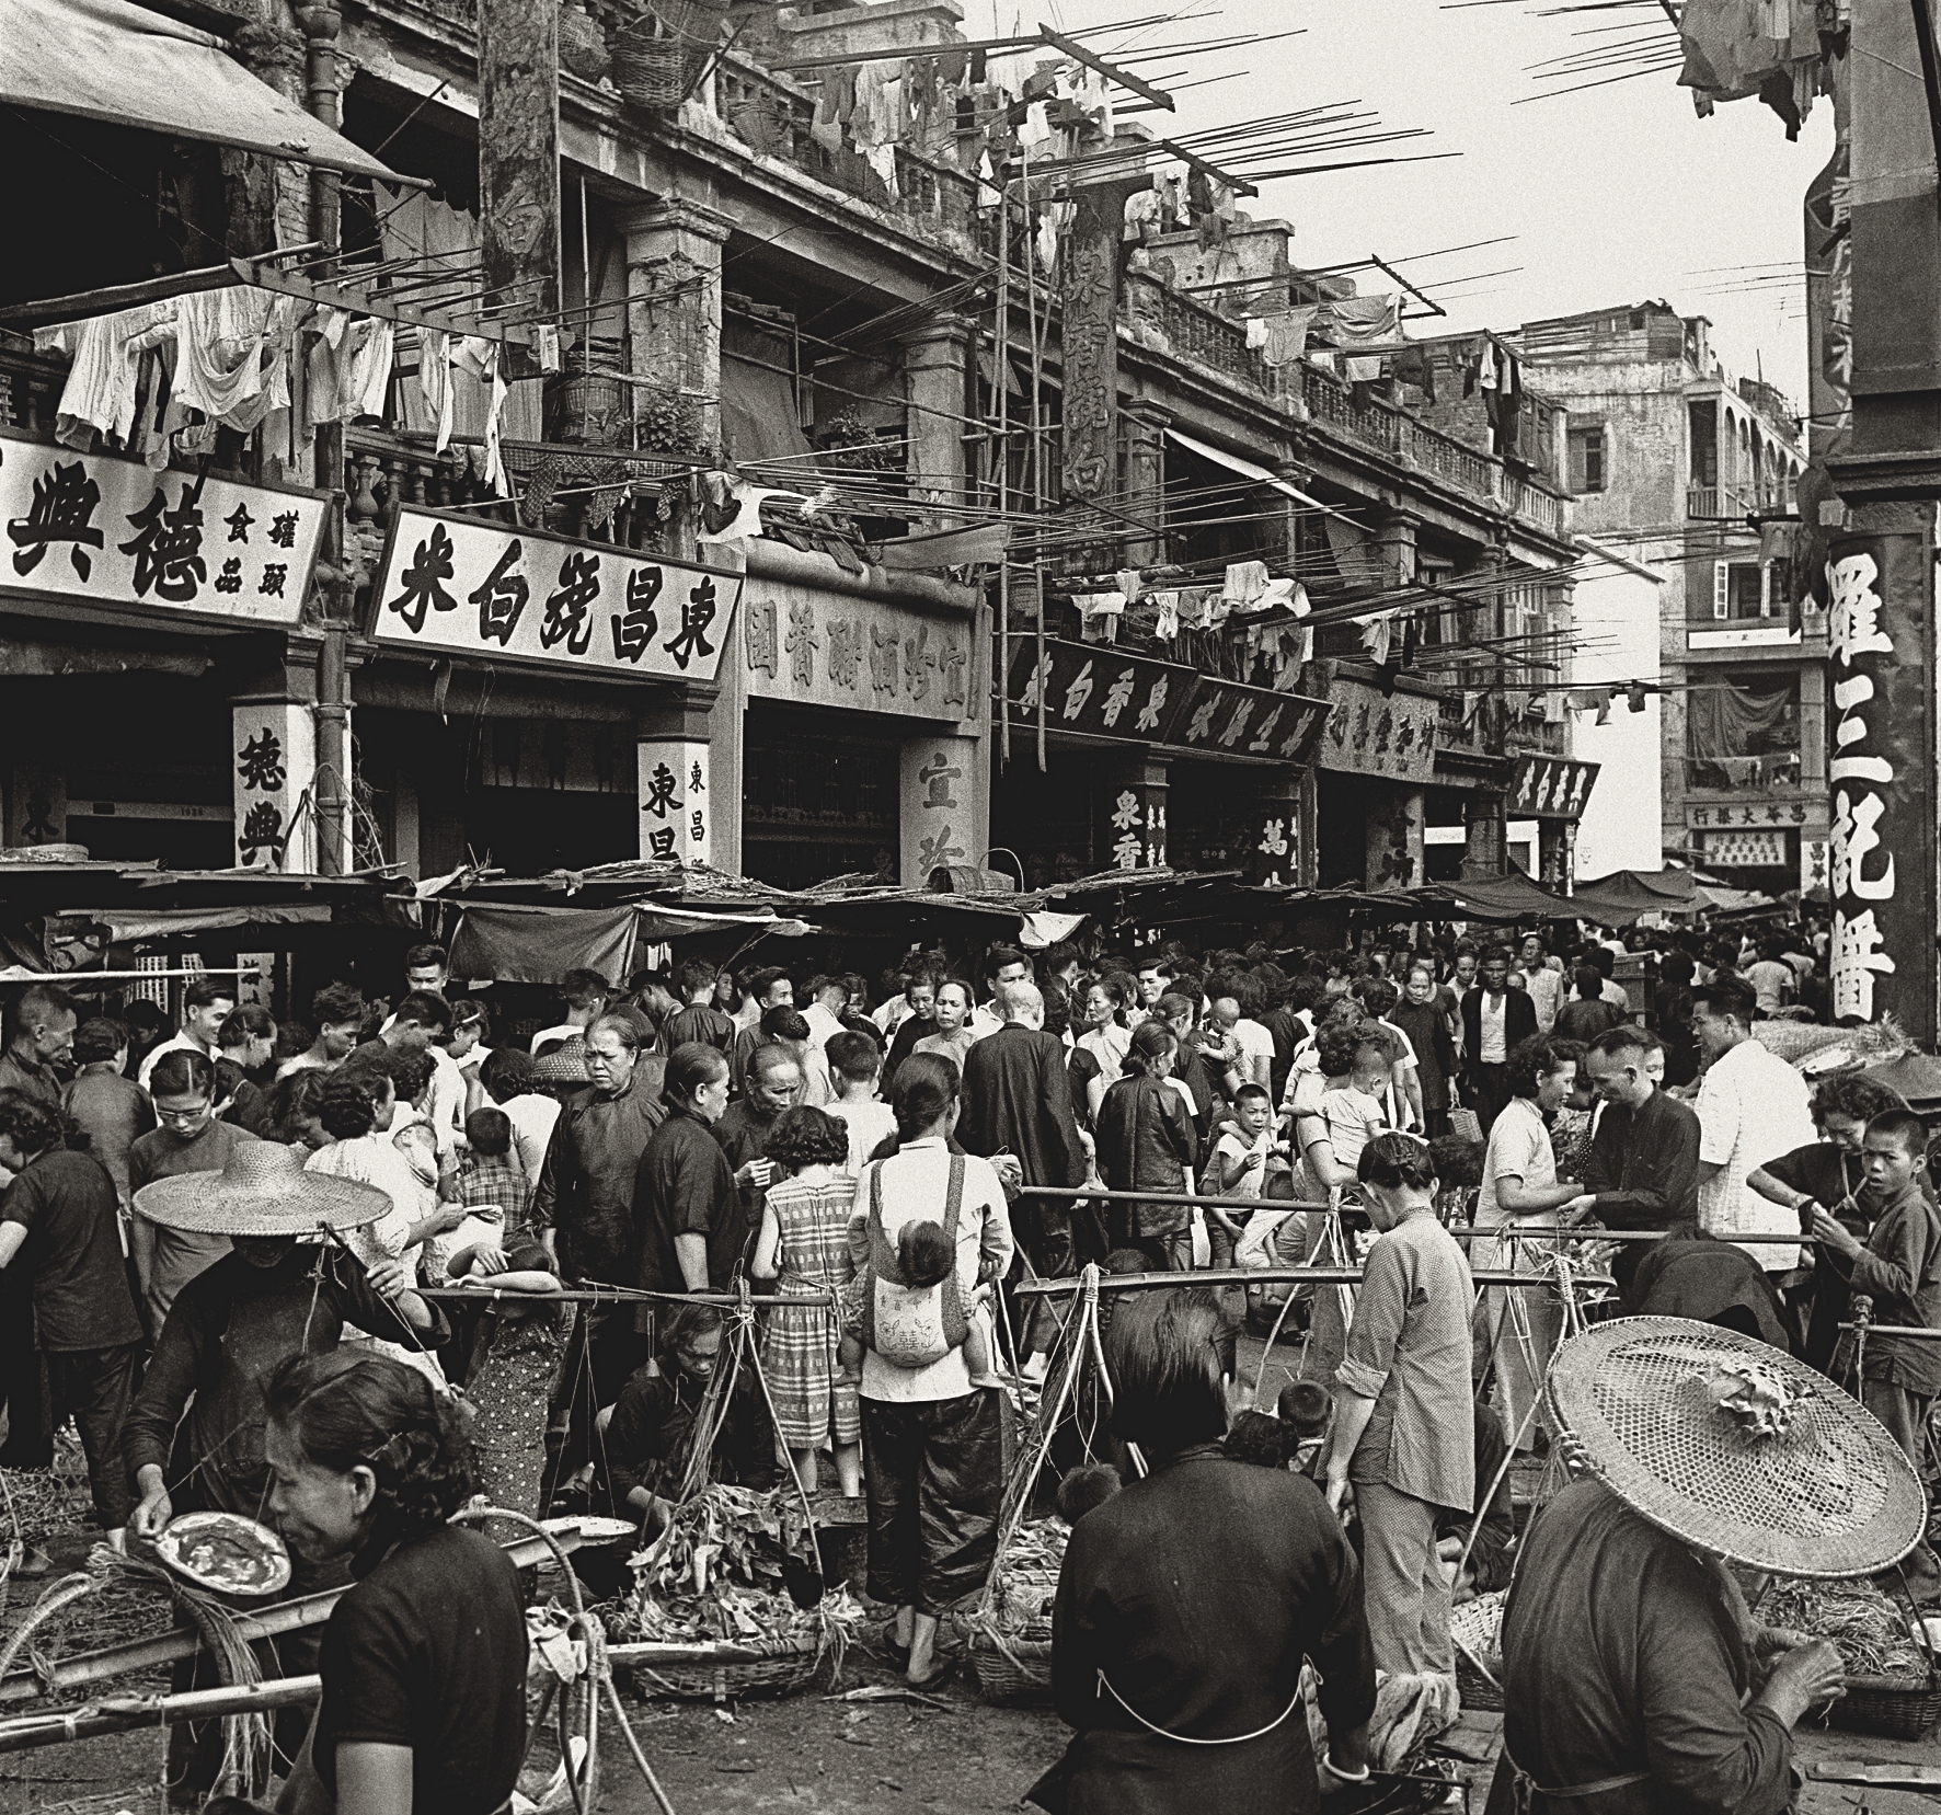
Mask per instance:
[[[161,113],[49,175],[0,483],[29,540],[89,489],[115,534],[0,563],[6,842],[1405,887],[1520,831],[1564,874],[1566,443],[1512,344],[1368,334],[1287,223],[1155,221],[1143,165],[1035,188],[1029,93],[1073,163],[1145,138],[947,0],[654,17],[563,10],[487,82],[499,0],[233,0],[194,54],[328,95],[328,186],[287,122]],[[210,247],[287,394],[184,429],[130,353],[148,413],[76,427],[56,305],[200,346]]]

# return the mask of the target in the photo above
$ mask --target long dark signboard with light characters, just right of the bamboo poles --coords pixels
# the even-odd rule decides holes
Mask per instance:
[[[1328,718],[1328,701],[1244,687],[1174,662],[1120,654],[1108,643],[1052,637],[1040,660],[1036,643],[1019,639],[1009,679],[1013,724],[1036,724],[1042,693],[1044,722],[1054,732],[1273,763],[1308,761]]]

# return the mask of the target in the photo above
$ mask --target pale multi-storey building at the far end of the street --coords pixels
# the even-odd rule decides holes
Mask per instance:
[[[1572,526],[1663,575],[1663,693],[1648,697],[1660,705],[1661,848],[1776,895],[1826,874],[1826,621],[1799,606],[1788,561],[1762,555],[1760,528],[1793,512],[1805,470],[1797,421],[1774,386],[1722,371],[1708,330],[1704,316],[1636,303],[1530,322],[1516,344],[1568,410]],[[1580,629],[1582,613],[1580,580]],[[1599,660],[1588,643],[1578,689]],[[1623,710],[1619,699],[1611,726]]]

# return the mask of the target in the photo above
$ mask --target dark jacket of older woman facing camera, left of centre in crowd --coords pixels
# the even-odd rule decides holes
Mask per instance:
[[[633,1285],[639,1275],[633,1188],[648,1138],[666,1116],[664,1073],[666,1060],[642,1058],[621,1095],[575,1091],[559,1110],[532,1194],[532,1227],[559,1231],[567,1279]]]

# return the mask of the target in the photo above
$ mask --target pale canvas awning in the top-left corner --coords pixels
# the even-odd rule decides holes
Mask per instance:
[[[0,0],[0,101],[400,181],[223,49],[128,0]]]

